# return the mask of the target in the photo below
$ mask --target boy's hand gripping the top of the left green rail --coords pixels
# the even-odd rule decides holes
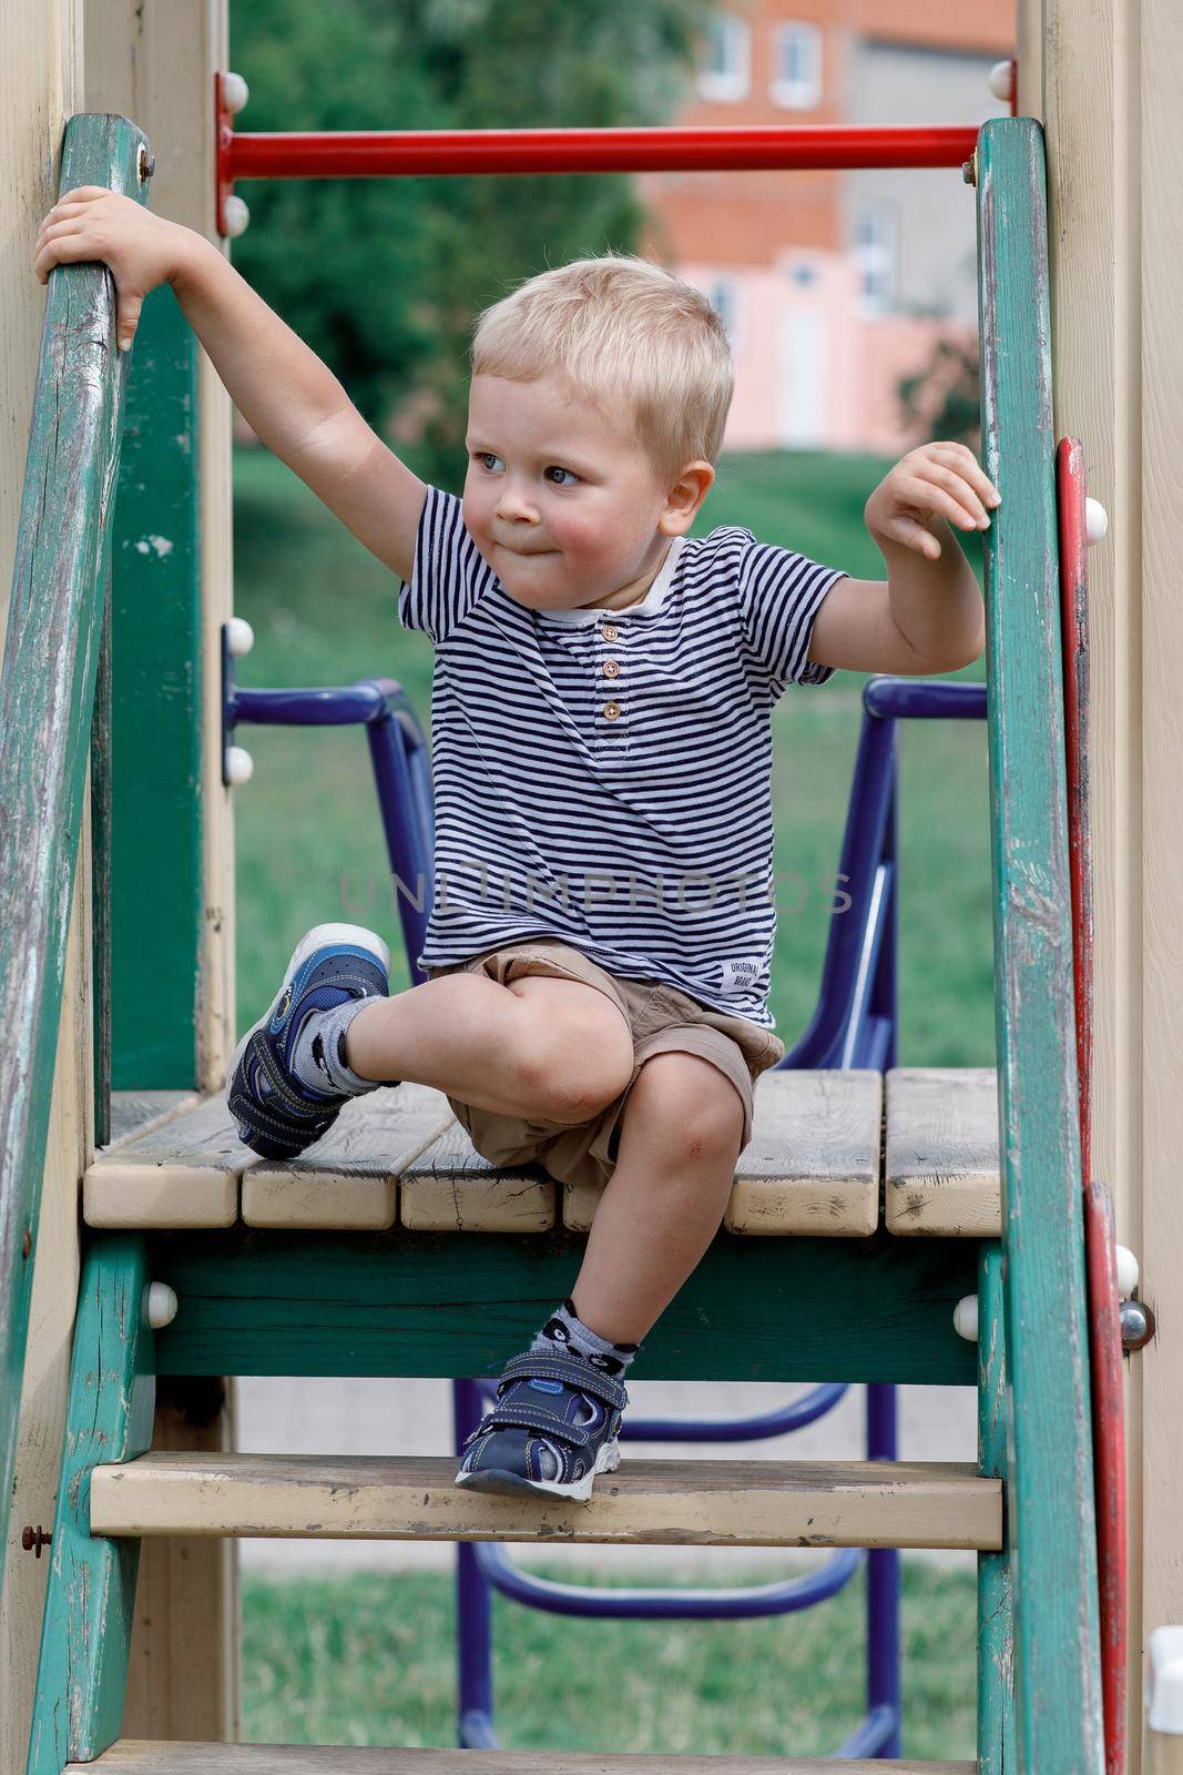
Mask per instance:
[[[144,296],[176,277],[188,238],[179,222],[154,217],[133,197],[80,185],[59,197],[41,224],[34,270],[46,284],[55,264],[105,261],[119,291],[119,350],[129,351]]]

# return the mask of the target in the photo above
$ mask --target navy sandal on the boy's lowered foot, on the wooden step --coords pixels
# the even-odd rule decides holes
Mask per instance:
[[[621,1464],[623,1381],[557,1349],[505,1363],[497,1400],[465,1443],[458,1486],[587,1503],[596,1473]]]

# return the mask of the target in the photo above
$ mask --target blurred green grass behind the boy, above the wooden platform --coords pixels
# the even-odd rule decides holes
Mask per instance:
[[[871,456],[731,456],[697,529],[743,524],[763,541],[878,577],[862,506],[885,467]],[[243,683],[390,676],[427,726],[431,643],[399,627],[397,580],[266,451],[236,454],[234,493],[238,614],[257,637]],[[981,674],[979,664],[958,676]],[[773,715],[784,880],[772,1012],[786,1044],[816,1003],[862,683],[858,673],[837,673],[828,685],[787,692]],[[323,919],[394,937],[392,985],[408,985],[364,733],[250,728],[239,740],[255,758],[254,781],[236,795],[239,1033],[270,1003],[296,939]],[[899,751],[899,1058],[993,1065],[984,726],[905,724]]]

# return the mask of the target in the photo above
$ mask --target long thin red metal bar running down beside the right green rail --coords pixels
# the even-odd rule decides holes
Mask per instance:
[[[1126,1759],[1126,1457],[1121,1317],[1114,1209],[1093,1177],[1093,827],[1089,797],[1089,580],[1085,568],[1084,449],[1061,438],[1055,451],[1061,543],[1061,632],[1068,742],[1068,847],[1071,870],[1077,1074],[1080,1079],[1080,1175],[1089,1292],[1089,1369],[1096,1550],[1101,1621],[1105,1775]]]

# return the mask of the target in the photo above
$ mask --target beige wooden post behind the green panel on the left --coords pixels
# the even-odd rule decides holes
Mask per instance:
[[[85,23],[87,108],[135,117],[147,130],[156,153],[153,208],[158,215],[197,229],[229,254],[229,241],[220,241],[215,229],[215,130],[209,103],[213,73],[229,62],[227,0],[190,0],[183,7],[172,0],[87,0],[85,9],[76,5],[76,14]],[[144,355],[144,346],[133,351],[133,360],[137,355]],[[168,659],[188,659],[200,699],[192,703],[200,767],[199,806],[193,809],[200,834],[200,951],[192,1021],[195,1083],[200,1090],[216,1090],[236,1042],[232,792],[222,785],[220,706],[220,630],[232,612],[231,398],[209,357],[204,351],[195,355],[195,412],[181,415],[183,422],[172,435],[174,444],[177,437],[193,444],[190,472],[197,486],[195,548],[186,547],[193,575],[192,596],[181,600],[174,632],[197,607],[200,635],[192,657],[177,646]],[[160,428],[167,415],[154,410],[153,419]],[[170,447],[168,440],[165,447]],[[147,513],[142,511],[142,518]],[[154,520],[142,524],[142,536],[161,531]],[[186,698],[190,685],[179,685],[170,674],[153,673],[142,639],[142,632],[124,632],[122,637],[124,646],[140,650],[149,696]],[[190,793],[186,785],[184,799]],[[142,1077],[151,1079],[153,1072],[145,1069]],[[234,1381],[225,1386],[232,1399]],[[231,1434],[225,1416],[223,1413],[220,1424]],[[153,1635],[147,1653],[133,1640],[133,1676],[124,1713],[128,1736],[239,1736],[236,1555],[234,1542],[202,1542],[199,1548],[192,1542],[158,1544],[147,1550],[140,1562],[144,1601],[138,1603],[138,1613],[151,1608],[163,1628]],[[200,1647],[188,1658],[181,1654],[184,1626],[192,1629],[192,1644]],[[138,1711],[138,1695],[147,1711]]]

